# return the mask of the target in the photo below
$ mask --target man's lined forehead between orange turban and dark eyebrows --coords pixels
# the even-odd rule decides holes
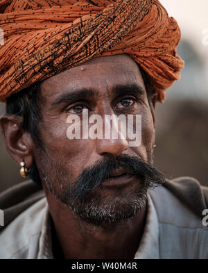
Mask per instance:
[[[137,63],[122,54],[93,58],[82,65],[67,69],[46,79],[41,89],[46,101],[51,101],[64,92],[83,88],[108,92],[116,85],[128,84],[138,84],[145,89]]]

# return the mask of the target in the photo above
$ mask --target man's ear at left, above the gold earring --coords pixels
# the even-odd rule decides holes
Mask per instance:
[[[22,117],[3,115],[0,119],[1,133],[10,156],[20,166],[24,161],[27,168],[33,163],[33,140],[31,135],[21,129]]]

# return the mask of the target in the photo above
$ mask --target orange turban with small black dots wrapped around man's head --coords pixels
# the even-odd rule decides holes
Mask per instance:
[[[158,0],[0,0],[0,101],[96,56],[127,53],[157,94],[180,78],[180,28]]]

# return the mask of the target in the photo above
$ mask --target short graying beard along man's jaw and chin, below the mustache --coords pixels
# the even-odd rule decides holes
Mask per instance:
[[[94,190],[87,191],[84,197],[74,199],[71,196],[70,187],[73,181],[71,181],[70,169],[64,169],[52,158],[49,160],[47,156],[41,166],[42,180],[51,193],[69,207],[80,220],[100,226],[137,215],[146,206],[148,189],[155,188],[164,181],[164,179],[159,179],[159,181],[144,179],[140,183],[135,181],[125,190],[122,187],[114,187],[110,195],[107,195],[105,190],[103,191],[101,185]]]

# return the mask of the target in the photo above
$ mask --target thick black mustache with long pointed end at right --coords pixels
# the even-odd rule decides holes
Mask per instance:
[[[135,156],[119,155],[106,156],[99,160],[94,166],[83,169],[69,192],[73,199],[83,199],[87,193],[96,190],[110,173],[119,167],[131,170],[131,174],[143,179],[146,188],[154,188],[164,183],[165,176],[156,167]]]

